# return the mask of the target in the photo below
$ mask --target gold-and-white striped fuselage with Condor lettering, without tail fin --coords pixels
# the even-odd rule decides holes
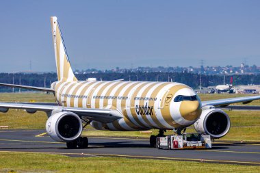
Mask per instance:
[[[92,122],[96,129],[179,129],[194,124],[201,114],[199,100],[174,102],[178,95],[196,95],[182,83],[57,81],[53,87],[57,102],[65,107],[116,109],[122,114],[114,122]]]

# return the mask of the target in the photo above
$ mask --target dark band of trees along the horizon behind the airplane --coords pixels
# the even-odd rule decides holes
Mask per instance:
[[[233,85],[260,84],[260,75],[232,75]],[[112,81],[124,79],[125,81],[174,81],[184,83],[196,89],[200,85],[200,75],[190,72],[99,72],[94,74],[77,74],[77,79],[84,81],[89,77],[97,80]],[[203,87],[229,83],[231,76],[224,75],[201,75]],[[224,81],[225,79],[225,81]],[[1,83],[14,83],[49,88],[51,83],[57,81],[56,73],[0,73]],[[17,92],[19,89],[14,89]],[[12,88],[0,87],[0,92],[12,92]]]

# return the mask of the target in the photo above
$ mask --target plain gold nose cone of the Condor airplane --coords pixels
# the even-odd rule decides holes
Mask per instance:
[[[181,116],[185,120],[194,121],[201,114],[201,107],[199,101],[182,101],[180,107]]]

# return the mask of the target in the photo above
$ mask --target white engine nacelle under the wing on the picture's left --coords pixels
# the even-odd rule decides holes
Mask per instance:
[[[57,142],[71,142],[81,135],[82,122],[77,114],[61,111],[49,117],[46,131]]]

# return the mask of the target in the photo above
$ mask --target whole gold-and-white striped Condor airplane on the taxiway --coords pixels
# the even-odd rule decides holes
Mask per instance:
[[[0,111],[25,109],[28,113],[44,111],[48,116],[46,131],[67,148],[87,148],[88,137],[81,137],[83,128],[90,124],[97,130],[140,131],[158,129],[156,137],[166,130],[177,134],[194,124],[197,132],[216,139],[229,132],[229,116],[216,108],[232,103],[250,103],[260,96],[200,101],[189,86],[177,82],[151,81],[78,81],[70,66],[57,17],[51,17],[51,31],[57,68],[57,81],[51,88],[0,83],[2,86],[52,92],[53,103],[0,103]]]

